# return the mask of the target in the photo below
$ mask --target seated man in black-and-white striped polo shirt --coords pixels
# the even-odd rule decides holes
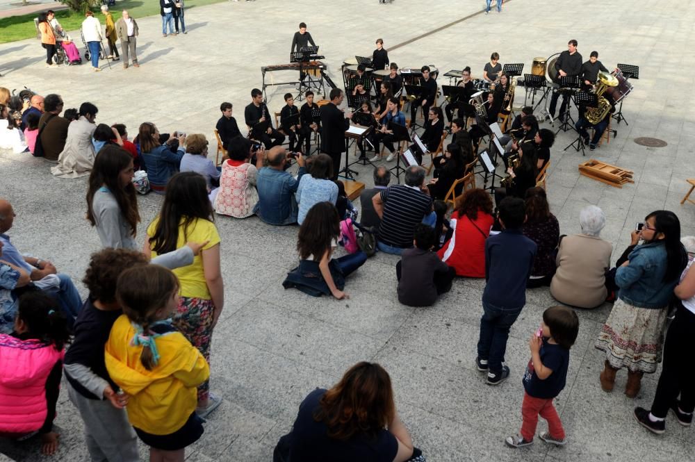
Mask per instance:
[[[387,254],[402,254],[413,247],[415,228],[420,222],[434,226],[430,190],[425,187],[425,169],[412,165],[405,170],[405,184],[392,185],[372,198],[379,224],[377,247]]]

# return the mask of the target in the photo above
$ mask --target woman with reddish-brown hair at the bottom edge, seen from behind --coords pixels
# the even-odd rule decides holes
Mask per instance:
[[[275,447],[276,461],[404,462],[421,455],[395,409],[389,373],[366,362],[330,390],[309,393]]]

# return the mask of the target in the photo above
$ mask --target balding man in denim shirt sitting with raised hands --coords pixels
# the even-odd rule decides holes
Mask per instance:
[[[276,146],[256,156],[256,168],[259,169],[256,175],[259,201],[254,207],[254,213],[268,224],[295,224],[299,213],[295,192],[306,173],[304,156],[297,155],[297,165],[300,166],[297,178],[285,172],[288,153],[284,147]],[[268,167],[262,167],[264,159],[267,160]]]

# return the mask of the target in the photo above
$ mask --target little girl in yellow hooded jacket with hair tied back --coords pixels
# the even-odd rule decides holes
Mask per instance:
[[[203,434],[196,387],[210,369],[170,320],[179,305],[177,277],[158,265],[131,267],[118,277],[116,299],[124,314],[106,342],[108,375],[125,394],[149,460],[183,462],[184,448]]]

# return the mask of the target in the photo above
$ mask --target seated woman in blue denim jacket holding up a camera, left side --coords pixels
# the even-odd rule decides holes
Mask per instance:
[[[174,140],[178,140],[179,147],[174,151],[170,149]],[[159,140],[159,130],[152,122],[140,124],[138,132],[138,143],[140,144],[140,154],[145,160],[145,170],[149,187],[158,194],[164,194],[169,179],[179,172],[181,158],[183,158],[186,145],[186,135],[179,138],[169,138],[162,145]]]

